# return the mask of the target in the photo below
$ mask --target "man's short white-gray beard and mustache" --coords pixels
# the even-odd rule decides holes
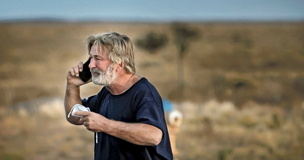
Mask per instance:
[[[109,87],[114,84],[117,79],[117,74],[113,71],[114,64],[110,64],[105,70],[98,70],[98,68],[90,69],[92,72],[97,72],[99,75],[92,74],[92,82],[97,85]]]

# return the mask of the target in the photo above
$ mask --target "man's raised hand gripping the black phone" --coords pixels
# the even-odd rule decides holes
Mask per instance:
[[[67,84],[72,84],[75,86],[81,86],[87,83],[92,82],[92,78],[88,80],[88,82],[83,82],[79,78],[79,72],[83,70],[83,63],[82,61],[78,62],[77,65],[71,67],[69,71],[67,72]]]

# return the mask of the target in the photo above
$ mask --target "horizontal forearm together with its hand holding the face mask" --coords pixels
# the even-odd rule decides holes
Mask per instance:
[[[83,116],[80,119],[87,130],[105,132],[136,145],[158,145],[163,136],[161,129],[150,124],[110,120],[94,112],[77,111],[75,114]]]

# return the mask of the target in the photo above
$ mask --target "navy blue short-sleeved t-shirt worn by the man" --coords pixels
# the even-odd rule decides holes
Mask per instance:
[[[103,87],[97,95],[83,99],[82,104],[108,119],[150,124],[163,132],[156,146],[135,145],[104,132],[95,133],[95,160],[173,159],[161,96],[146,78],[119,95],[112,95]]]

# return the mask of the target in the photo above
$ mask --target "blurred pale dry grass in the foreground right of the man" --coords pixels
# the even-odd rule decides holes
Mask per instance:
[[[231,102],[182,103],[186,115],[178,134],[179,159],[303,159],[304,104],[280,107]],[[219,158],[220,157],[220,158]]]

